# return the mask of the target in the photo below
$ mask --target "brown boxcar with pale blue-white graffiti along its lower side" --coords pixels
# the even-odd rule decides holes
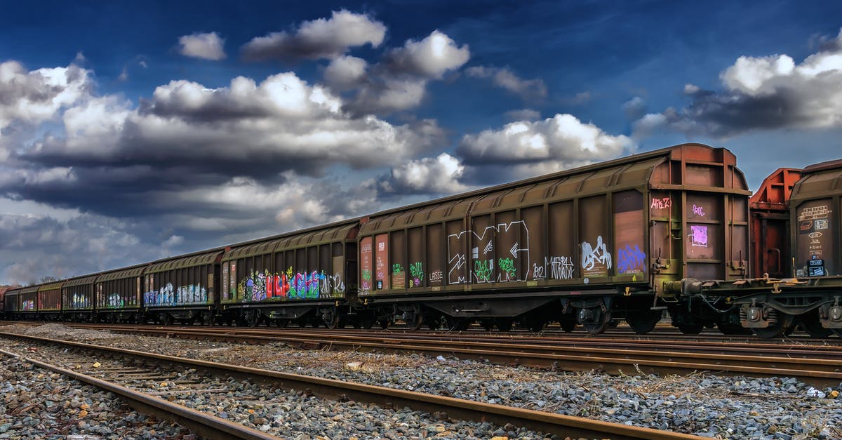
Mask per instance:
[[[142,271],[142,278],[138,272],[137,300],[140,304],[142,286],[142,307],[147,318],[163,324],[172,324],[176,319],[184,324],[210,323],[214,317],[214,294],[220,287],[222,251],[204,250],[159,260]]]

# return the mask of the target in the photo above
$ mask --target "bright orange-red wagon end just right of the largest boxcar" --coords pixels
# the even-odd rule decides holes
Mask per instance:
[[[781,168],[763,180],[749,199],[751,212],[751,273],[755,278],[792,276],[790,213],[792,186],[800,169]]]

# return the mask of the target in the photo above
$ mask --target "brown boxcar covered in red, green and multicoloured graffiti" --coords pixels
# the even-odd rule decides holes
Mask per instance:
[[[354,307],[359,225],[354,218],[232,246],[221,263],[226,320],[342,324]]]

